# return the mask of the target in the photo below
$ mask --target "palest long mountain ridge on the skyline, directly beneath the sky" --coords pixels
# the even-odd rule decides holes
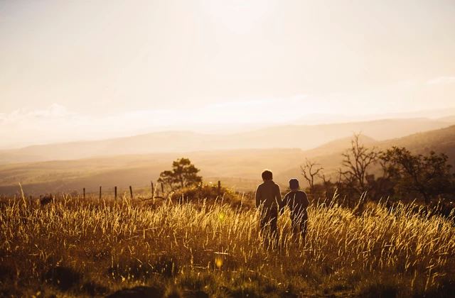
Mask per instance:
[[[450,120],[451,118],[449,118]],[[45,160],[76,160],[95,156],[176,153],[200,150],[299,148],[309,150],[338,138],[362,132],[375,140],[445,128],[447,121],[429,118],[383,119],[321,125],[288,125],[245,133],[213,135],[191,131],[164,131],[127,138],[33,145],[0,150],[0,165]],[[330,146],[330,145],[329,145]]]

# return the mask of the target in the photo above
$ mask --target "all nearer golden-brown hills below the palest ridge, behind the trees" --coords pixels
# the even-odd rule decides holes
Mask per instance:
[[[455,166],[455,126],[392,140],[375,140],[365,134],[360,139],[368,147],[374,145],[383,150],[396,145],[413,153],[428,154],[430,150],[446,153],[449,164]],[[305,158],[318,162],[326,173],[333,172],[340,167],[341,153],[350,146],[350,140],[351,137],[332,140],[311,150],[206,150],[0,165],[0,194],[14,194],[18,182],[28,194],[80,192],[82,187],[87,188],[87,192],[96,192],[100,186],[109,191],[114,186],[119,189],[127,189],[129,185],[147,187],[151,180],[156,182],[160,172],[170,169],[173,160],[182,157],[190,158],[200,168],[205,183],[221,180],[228,187],[235,185],[237,189],[253,190],[260,182],[262,170],[269,168],[282,187],[287,187],[291,177],[299,178],[304,186],[300,165]]]

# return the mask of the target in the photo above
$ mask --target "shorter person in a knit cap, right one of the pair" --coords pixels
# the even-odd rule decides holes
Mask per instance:
[[[306,193],[299,190],[299,180],[289,180],[289,188],[291,191],[284,196],[282,209],[284,209],[284,206],[289,207],[289,210],[291,211],[292,231],[296,234],[299,232],[300,228],[301,238],[305,242],[306,221],[308,221],[306,208],[309,206],[310,202]]]

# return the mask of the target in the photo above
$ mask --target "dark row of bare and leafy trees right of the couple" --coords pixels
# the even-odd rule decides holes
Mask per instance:
[[[348,200],[364,195],[373,201],[387,197],[405,202],[422,199],[427,205],[454,199],[455,175],[445,153],[416,155],[405,147],[369,148],[357,133],[342,155],[341,167],[332,175],[324,174],[316,161],[306,159],[301,165],[301,174],[309,184],[307,190],[314,197],[330,198],[337,191]]]

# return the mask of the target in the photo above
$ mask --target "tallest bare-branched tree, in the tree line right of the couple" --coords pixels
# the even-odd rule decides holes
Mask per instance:
[[[377,147],[367,148],[360,140],[360,133],[354,133],[350,148],[343,155],[343,170],[339,170],[341,183],[353,194],[368,192],[373,184],[368,182],[374,176],[368,170],[378,162],[381,151]]]

